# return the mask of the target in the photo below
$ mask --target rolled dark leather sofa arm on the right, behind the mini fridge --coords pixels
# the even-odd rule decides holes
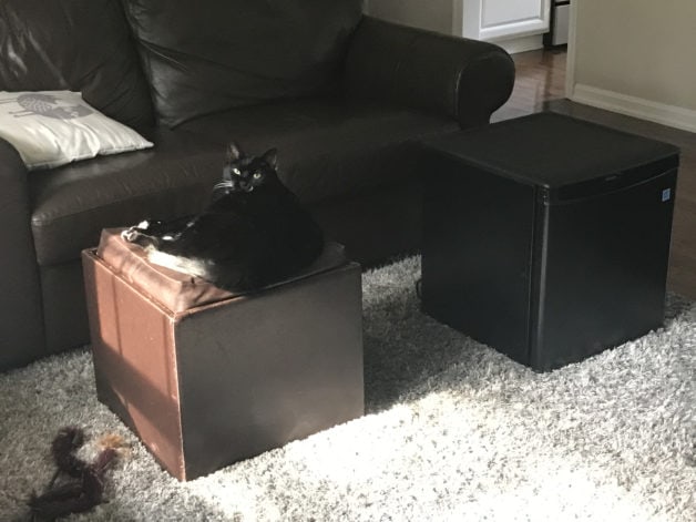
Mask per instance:
[[[349,98],[390,101],[488,123],[512,92],[514,63],[498,45],[364,17],[344,78]]]

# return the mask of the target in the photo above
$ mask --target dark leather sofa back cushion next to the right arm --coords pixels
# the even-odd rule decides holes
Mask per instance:
[[[124,0],[160,121],[331,88],[361,0]]]

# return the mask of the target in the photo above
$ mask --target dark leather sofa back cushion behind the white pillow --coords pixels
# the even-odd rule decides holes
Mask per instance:
[[[0,91],[80,91],[135,129],[153,122],[119,0],[0,1]]]

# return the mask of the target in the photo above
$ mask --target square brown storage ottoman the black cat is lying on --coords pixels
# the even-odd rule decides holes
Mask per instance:
[[[360,266],[328,244],[234,296],[102,234],[82,253],[99,400],[180,480],[364,412]]]

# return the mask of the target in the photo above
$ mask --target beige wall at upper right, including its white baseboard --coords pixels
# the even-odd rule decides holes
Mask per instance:
[[[696,1],[581,0],[574,9],[569,98],[696,131]]]

